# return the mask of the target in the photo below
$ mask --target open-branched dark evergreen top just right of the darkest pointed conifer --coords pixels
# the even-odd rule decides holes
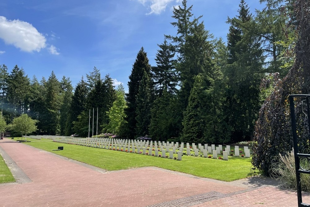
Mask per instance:
[[[169,93],[175,94],[177,92],[178,73],[175,70],[174,47],[167,43],[166,38],[164,43],[158,47],[160,49],[157,50],[155,58],[157,66],[152,67],[155,94],[161,95],[164,88]]]

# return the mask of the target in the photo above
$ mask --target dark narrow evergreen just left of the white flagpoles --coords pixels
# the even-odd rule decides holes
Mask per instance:
[[[66,121],[65,135],[70,136],[75,133],[73,131],[73,122],[78,121],[78,115],[86,110],[87,86],[83,79],[77,84],[74,90],[72,101],[70,103],[69,114]]]

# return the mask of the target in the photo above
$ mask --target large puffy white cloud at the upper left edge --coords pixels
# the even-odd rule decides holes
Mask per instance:
[[[46,47],[46,38],[28,22],[7,20],[0,16],[0,38],[25,52],[40,52]]]

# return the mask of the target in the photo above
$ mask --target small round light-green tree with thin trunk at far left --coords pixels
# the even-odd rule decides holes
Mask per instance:
[[[38,120],[31,119],[27,114],[23,114],[20,117],[13,119],[13,122],[9,124],[8,128],[15,132],[21,133],[21,137],[23,139],[23,134],[27,135],[27,133],[38,130],[36,123],[38,123]]]

